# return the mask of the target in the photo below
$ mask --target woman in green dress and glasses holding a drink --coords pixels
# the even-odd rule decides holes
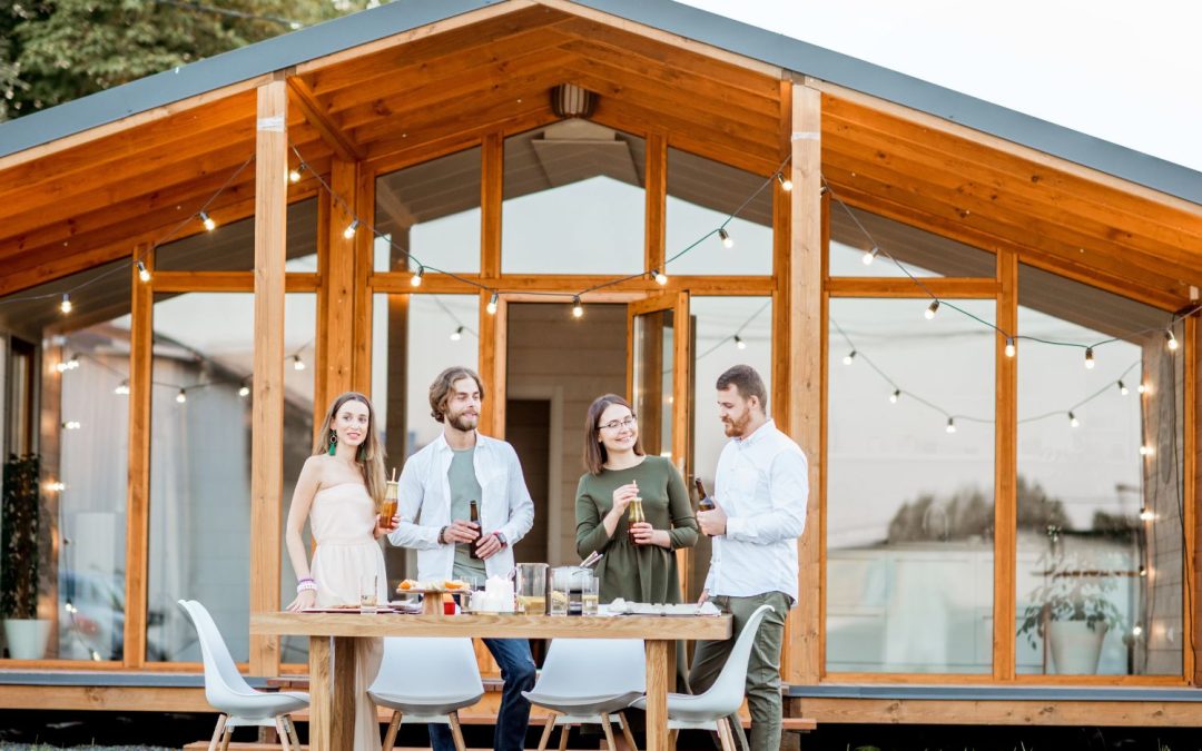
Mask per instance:
[[[601,602],[680,602],[674,552],[697,542],[684,479],[668,459],[643,453],[638,421],[621,397],[596,399],[584,434],[589,471],[576,489],[576,552],[605,554],[596,567]],[[647,520],[630,525],[627,508],[636,497]]]

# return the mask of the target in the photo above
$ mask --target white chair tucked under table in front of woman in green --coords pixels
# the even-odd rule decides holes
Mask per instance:
[[[600,725],[613,751],[609,715],[617,714],[626,743],[637,751],[624,710],[647,691],[642,639],[554,639],[534,689],[523,691],[531,704],[555,713],[542,731],[538,751],[547,749],[555,726],[560,750],[573,725]]]

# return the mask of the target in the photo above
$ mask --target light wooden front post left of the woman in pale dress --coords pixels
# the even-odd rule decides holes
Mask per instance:
[[[280,609],[284,491],[284,262],[287,240],[287,84],[258,88],[255,144],[255,380],[250,463],[250,612]],[[250,672],[276,675],[278,637],[250,637]]]

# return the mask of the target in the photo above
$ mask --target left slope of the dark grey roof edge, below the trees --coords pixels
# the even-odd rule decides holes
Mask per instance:
[[[0,157],[502,1],[389,2],[147,76],[0,124]]]

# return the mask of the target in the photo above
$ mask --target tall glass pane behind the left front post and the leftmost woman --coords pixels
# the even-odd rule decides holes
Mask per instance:
[[[250,293],[155,296],[150,661],[201,658],[179,598],[203,603],[234,660],[248,657],[254,310]],[[314,310],[313,294],[285,298],[286,483],[294,482],[313,441]],[[290,576],[281,590],[296,589]]]

